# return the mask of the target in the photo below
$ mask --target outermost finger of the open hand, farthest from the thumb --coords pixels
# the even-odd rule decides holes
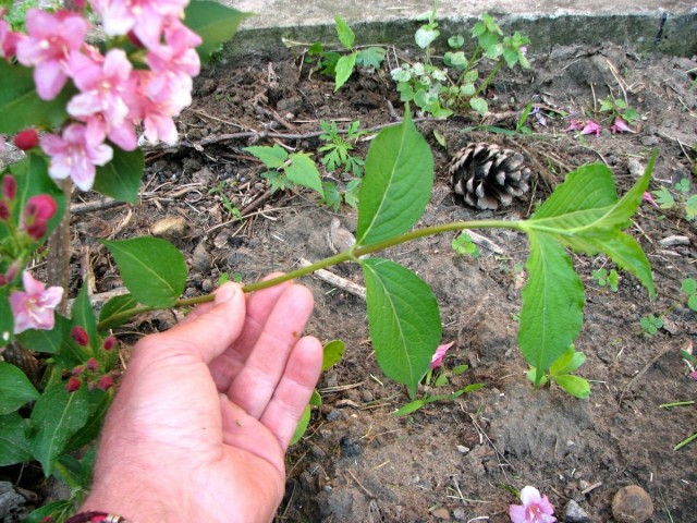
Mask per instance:
[[[322,345],[317,338],[301,339],[293,349],[276,392],[260,422],[285,451],[297,422],[313,396],[322,366]]]

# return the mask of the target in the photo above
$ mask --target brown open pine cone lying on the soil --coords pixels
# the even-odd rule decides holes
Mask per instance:
[[[521,196],[529,188],[530,170],[523,161],[522,154],[501,149],[496,144],[469,144],[450,162],[450,185],[478,209],[506,207],[513,196]]]

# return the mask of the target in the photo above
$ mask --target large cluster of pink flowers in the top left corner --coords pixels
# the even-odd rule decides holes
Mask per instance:
[[[26,35],[10,31],[0,20],[0,56],[15,56],[22,65],[34,68],[40,98],[53,99],[69,80],[80,92],[68,104],[72,121],[61,134],[40,141],[51,157],[52,178],[70,177],[83,191],[91,188],[96,167],[113,156],[106,141],[134,150],[138,124],[150,142],[176,143],[173,117],[191,104],[192,77],[200,70],[195,48],[201,39],[182,23],[187,3],[90,0],[108,36],[129,36],[145,49],[131,57],[118,48],[102,54],[86,44],[89,23],[80,12],[32,9]],[[132,60],[143,66],[134,68]]]

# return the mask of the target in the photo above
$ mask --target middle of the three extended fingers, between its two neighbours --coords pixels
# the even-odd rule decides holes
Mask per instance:
[[[228,389],[230,400],[257,419],[273,396],[313,305],[313,294],[307,288],[295,284],[286,288],[273,305],[244,367]]]

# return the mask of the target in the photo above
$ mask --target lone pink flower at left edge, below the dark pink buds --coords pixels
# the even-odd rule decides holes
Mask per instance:
[[[63,289],[49,287],[28,272],[22,273],[24,291],[10,294],[10,306],[14,316],[14,333],[19,335],[27,329],[51,330],[56,318],[53,309],[63,299]]]

